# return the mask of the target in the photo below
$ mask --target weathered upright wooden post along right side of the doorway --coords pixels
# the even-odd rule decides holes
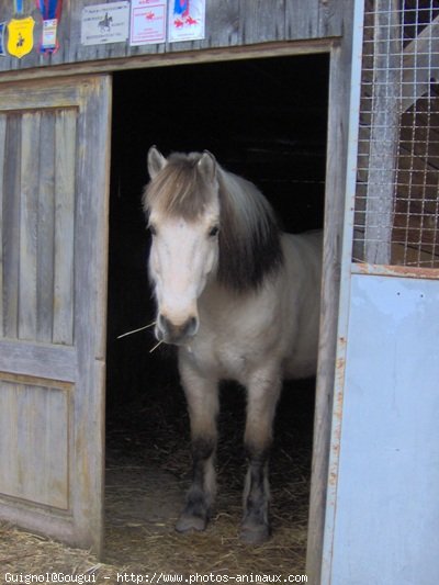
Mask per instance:
[[[329,69],[328,143],[325,188],[324,260],[319,357],[314,417],[312,484],[309,494],[306,575],[309,583],[320,583],[324,555],[327,482],[333,427],[334,381],[340,295],[341,241],[346,205],[346,173],[350,106],[353,2],[340,8],[346,35],[333,47]]]

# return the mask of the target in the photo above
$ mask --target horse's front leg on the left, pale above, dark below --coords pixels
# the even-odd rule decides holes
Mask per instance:
[[[218,414],[217,380],[201,376],[180,360],[180,374],[191,421],[192,484],[184,509],[176,524],[179,532],[204,530],[216,495],[214,459]]]

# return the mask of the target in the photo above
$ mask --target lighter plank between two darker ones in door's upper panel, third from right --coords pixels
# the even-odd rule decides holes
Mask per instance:
[[[24,113],[21,124],[21,204],[19,337],[36,339],[37,184],[40,170],[40,123],[37,112]]]

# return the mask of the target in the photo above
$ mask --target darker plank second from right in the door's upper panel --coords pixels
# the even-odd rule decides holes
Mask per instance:
[[[42,112],[37,225],[37,331],[38,341],[52,341],[54,307],[55,230],[55,114]]]

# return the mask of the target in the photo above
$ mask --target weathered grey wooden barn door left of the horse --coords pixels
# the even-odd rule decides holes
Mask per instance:
[[[0,83],[0,518],[98,553],[110,98]]]

